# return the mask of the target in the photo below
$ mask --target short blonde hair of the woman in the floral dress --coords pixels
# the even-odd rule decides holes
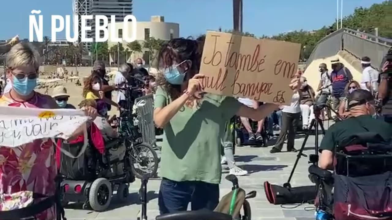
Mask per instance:
[[[38,70],[40,67],[40,54],[28,42],[20,42],[7,53],[6,63],[9,69],[15,69],[23,66],[33,66]]]

